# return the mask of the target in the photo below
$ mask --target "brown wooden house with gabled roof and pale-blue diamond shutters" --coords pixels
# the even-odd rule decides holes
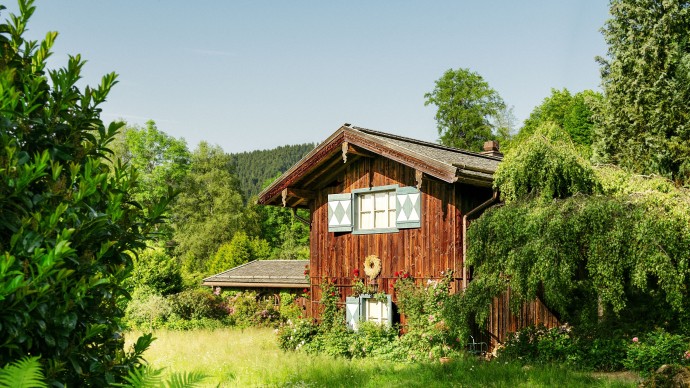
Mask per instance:
[[[335,131],[258,198],[259,204],[310,211],[308,314],[318,317],[320,285],[327,280],[347,301],[348,320],[392,320],[394,299],[348,298],[358,280],[368,281],[367,257],[380,265],[377,292],[390,294],[401,271],[433,280],[451,269],[452,288],[466,287],[465,232],[498,200],[492,185],[501,159],[495,142],[476,153],[349,124]],[[556,322],[538,302],[514,316],[506,298],[497,298],[488,322],[493,342],[524,324]]]

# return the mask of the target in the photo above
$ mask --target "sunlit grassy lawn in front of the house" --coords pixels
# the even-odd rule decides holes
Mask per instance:
[[[128,339],[134,338],[129,335]],[[407,364],[345,360],[278,349],[271,329],[157,331],[145,353],[154,368],[198,371],[221,387],[634,387],[629,375],[592,375],[557,366],[498,361]]]

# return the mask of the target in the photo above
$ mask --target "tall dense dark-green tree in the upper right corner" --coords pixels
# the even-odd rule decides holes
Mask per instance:
[[[690,182],[690,2],[613,0],[598,162]]]

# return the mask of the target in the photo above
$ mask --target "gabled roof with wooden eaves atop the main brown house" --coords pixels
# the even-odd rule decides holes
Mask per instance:
[[[502,159],[345,124],[262,191],[258,203],[306,207],[311,192],[331,184],[347,163],[379,155],[447,183],[482,187],[491,187]]]

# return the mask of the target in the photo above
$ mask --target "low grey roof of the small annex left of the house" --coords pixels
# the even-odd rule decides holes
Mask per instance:
[[[211,287],[302,288],[309,260],[254,260],[207,277],[201,283]]]

